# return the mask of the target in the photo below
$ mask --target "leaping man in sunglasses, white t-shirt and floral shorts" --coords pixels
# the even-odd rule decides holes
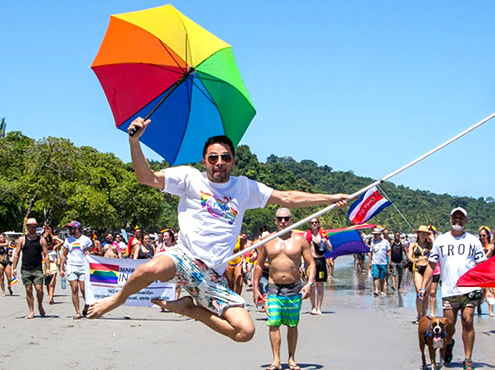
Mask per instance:
[[[222,261],[232,255],[244,212],[266,204],[309,207],[336,203],[342,207],[349,196],[278,191],[243,176],[231,177],[235,151],[226,136],[206,142],[201,160],[206,172],[189,166],[153,171],[139,143],[150,122],[137,118],[128,128],[128,132],[138,129],[137,134],[129,136],[132,163],[140,183],[180,197],[179,240],[177,246],[137,268],[117,294],[91,305],[88,317],[96,318],[117,308],[155,280],[173,280],[190,296],[154,303],[201,321],[235,341],[248,341],[254,335],[254,324],[244,308],[244,299],[229,290],[222,277],[226,267]]]

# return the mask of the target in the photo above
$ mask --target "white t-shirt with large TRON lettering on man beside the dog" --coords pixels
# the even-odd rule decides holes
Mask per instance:
[[[477,237],[464,233],[454,237],[449,232],[440,235],[431,249],[430,262],[440,262],[442,298],[469,293],[479,288],[456,287],[457,280],[477,263],[486,260]]]

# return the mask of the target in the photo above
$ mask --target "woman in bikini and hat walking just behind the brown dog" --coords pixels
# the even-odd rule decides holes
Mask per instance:
[[[427,226],[421,225],[416,230],[417,239],[411,244],[409,247],[409,253],[407,258],[413,264],[413,277],[414,277],[414,287],[416,288],[416,295],[419,293],[419,289],[423,284],[423,275],[426,270],[426,266],[428,265],[428,257],[430,255],[431,247],[433,243],[430,237],[430,230]],[[426,291],[430,291],[431,283],[426,287]],[[426,315],[426,310],[428,309],[428,299],[425,299],[423,302],[416,298],[416,311],[418,313],[418,318],[416,323],[418,323],[419,319]]]

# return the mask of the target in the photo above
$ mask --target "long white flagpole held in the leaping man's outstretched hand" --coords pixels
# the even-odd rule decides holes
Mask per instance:
[[[461,133],[457,134],[456,136],[454,136],[453,138],[447,140],[446,142],[444,142],[443,144],[440,144],[439,146],[433,148],[432,150],[430,150],[429,152],[423,154],[422,156],[416,158],[415,160],[409,162],[408,164],[406,164],[405,166],[402,166],[401,168],[395,170],[394,172],[391,172],[389,173],[387,176],[384,176],[382,177],[380,180],[377,180],[375,181],[374,183],[372,184],[369,184],[368,186],[362,188],[361,190],[358,190],[356,191],[355,193],[351,194],[350,197],[349,197],[349,200],[351,199],[354,199],[354,198],[357,198],[358,196],[360,196],[361,194],[367,192],[369,189],[371,189],[373,186],[378,186],[380,185],[382,182],[384,181],[387,181],[388,179],[394,177],[395,175],[401,173],[402,171],[405,171],[407,170],[409,167],[412,167],[414,166],[416,163],[418,162],[421,162],[423,159],[425,158],[428,158],[430,155],[432,155],[433,153],[436,153],[438,152],[440,149],[443,149],[445,148],[447,145],[453,143],[454,141],[460,139],[461,137],[463,137],[464,135],[470,133],[471,131],[473,131],[475,128],[478,128],[479,126],[485,124],[486,122],[488,122],[489,120],[491,120],[492,118],[495,117],[495,113],[492,113],[491,115],[489,115],[488,117],[482,119],[481,121],[475,123],[474,125],[472,125],[471,127],[467,128],[466,130],[462,131]],[[328,207],[326,208],[323,208],[321,210],[319,210],[318,212],[315,212],[314,214],[302,219],[301,221],[298,221],[296,222],[295,224],[292,224],[290,225],[289,227],[286,227],[285,229],[283,230],[280,230],[278,232],[276,232],[275,234],[272,234],[270,236],[267,236],[265,239],[263,240],[260,240],[259,242],[251,245],[250,247],[236,253],[236,254],[233,254],[231,256],[228,256],[227,258],[225,258],[219,265],[217,266],[214,266],[213,268],[215,267],[219,267],[221,265],[224,265],[226,263],[228,263],[229,261],[232,261],[240,256],[242,256],[244,253],[246,252],[249,252],[255,248],[258,248],[259,246],[265,244],[266,242],[270,241],[270,240],[273,240],[275,238],[278,238],[279,236],[281,235],[284,235],[285,233],[289,232],[290,230],[292,229],[295,229],[299,226],[302,226],[306,223],[308,223],[312,218],[315,218],[315,217],[319,217],[329,211],[331,211],[332,209],[334,209],[336,207],[335,204],[331,204],[329,205]]]

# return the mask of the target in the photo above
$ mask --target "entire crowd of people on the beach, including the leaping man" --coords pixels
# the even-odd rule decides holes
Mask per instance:
[[[120,233],[107,233],[100,241],[93,235],[84,235],[81,223],[72,221],[67,225],[69,236],[62,240],[49,226],[38,233],[37,221],[30,218],[26,222],[26,233],[17,239],[13,253],[9,243],[0,236],[4,295],[4,275],[10,283],[17,279],[21,255],[19,276],[26,289],[29,309],[26,318],[34,317],[34,292],[39,313],[45,314],[43,284],[47,286],[49,304],[53,303],[57,273],[62,284],[65,279],[69,281],[74,319],[101,317],[124,304],[128,297],[151,282],[169,281],[187,294],[181,295],[178,288],[174,300],[153,299],[153,303],[162,310],[195,319],[234,341],[245,342],[251,340],[255,330],[241,296],[242,287],[247,284],[252,287],[255,304],[262,305],[268,316],[273,354],[268,368],[282,368],[279,328],[285,325],[289,328],[288,365],[292,370],[299,369],[295,351],[301,301],[309,297],[311,314],[321,315],[324,283],[332,278],[335,264],[333,259],[325,257],[325,252],[332,249],[329,237],[320,220],[313,218],[306,232],[286,232],[275,236],[270,234],[268,226],[262,226],[257,240],[249,240],[240,233],[242,218],[247,209],[278,205],[280,208],[276,210],[274,224],[277,231],[282,231],[293,221],[290,208],[329,204],[344,207],[349,195],[279,191],[243,176],[231,176],[236,158],[233,144],[226,136],[215,136],[205,143],[201,160],[204,172],[189,166],[153,171],[139,143],[139,137],[149,123],[150,120],[137,118],[128,128],[129,132],[137,132],[129,136],[132,163],[140,183],[180,198],[180,233],[166,229],[155,237],[136,228],[128,241]],[[416,230],[417,237],[412,243],[398,232],[392,239],[388,230],[378,228],[373,230],[373,236],[367,242],[375,296],[387,295],[389,277],[392,278],[391,288],[400,294],[404,271],[410,270],[417,291],[420,318],[428,309],[428,295],[436,297],[436,287],[442,282],[443,311],[451,326],[446,361],[451,360],[456,314],[461,309],[465,369],[471,369],[474,343],[472,312],[474,306],[480,304],[483,293],[479,296],[478,289],[466,291],[456,288],[453,281],[457,281],[459,273],[466,272],[494,252],[490,229],[486,226],[480,228],[478,240],[464,231],[466,222],[467,212],[456,208],[450,214],[452,229],[438,238],[433,226],[422,225]],[[266,238],[267,241],[260,243],[258,249],[249,249],[252,243]],[[86,254],[145,261],[114,295],[89,306],[84,304],[81,310],[79,297],[82,295],[84,299]],[[236,258],[232,258],[233,254]],[[355,257],[359,274],[366,270],[365,258],[366,254]],[[435,271],[438,268],[440,270]],[[488,298],[493,297],[493,291],[487,290],[485,294]],[[431,303],[430,309],[434,306]],[[490,314],[493,315],[493,305]]]

